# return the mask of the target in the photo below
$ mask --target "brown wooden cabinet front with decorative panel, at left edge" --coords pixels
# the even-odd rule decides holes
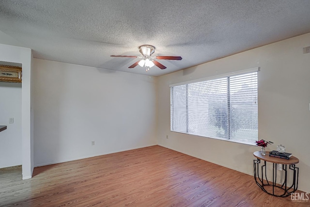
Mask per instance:
[[[21,83],[21,71],[18,66],[0,65],[0,81]]]

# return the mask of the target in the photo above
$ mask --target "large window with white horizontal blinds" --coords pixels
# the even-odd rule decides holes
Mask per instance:
[[[171,85],[171,131],[255,143],[257,71]]]

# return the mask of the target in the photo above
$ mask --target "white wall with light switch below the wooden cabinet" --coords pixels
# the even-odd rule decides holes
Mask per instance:
[[[0,168],[21,165],[21,83],[0,82],[0,100]]]

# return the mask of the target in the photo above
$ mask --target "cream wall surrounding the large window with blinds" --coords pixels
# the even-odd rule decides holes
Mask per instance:
[[[259,138],[280,143],[299,159],[298,189],[310,192],[310,33],[248,50],[158,78],[158,144],[253,175],[256,146],[170,131],[169,84],[261,67],[258,73]],[[169,139],[166,139],[166,135]]]

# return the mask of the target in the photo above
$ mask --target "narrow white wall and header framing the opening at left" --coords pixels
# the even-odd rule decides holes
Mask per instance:
[[[21,134],[22,177],[31,178],[33,172],[33,136],[31,134],[31,49],[0,44],[0,61],[22,64]]]

